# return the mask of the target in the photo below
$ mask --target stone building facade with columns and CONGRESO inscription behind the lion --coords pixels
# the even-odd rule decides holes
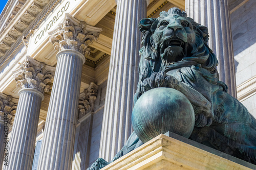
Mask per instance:
[[[253,0],[9,0],[0,15],[0,168],[111,160],[133,131],[137,23],[172,7],[209,28],[221,80],[256,117]]]

